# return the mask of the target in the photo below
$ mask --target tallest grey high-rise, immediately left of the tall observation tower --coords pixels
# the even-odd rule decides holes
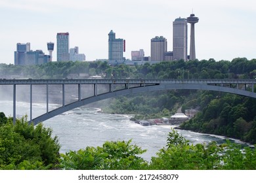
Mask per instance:
[[[188,56],[188,25],[186,18],[176,18],[173,22],[173,60]]]

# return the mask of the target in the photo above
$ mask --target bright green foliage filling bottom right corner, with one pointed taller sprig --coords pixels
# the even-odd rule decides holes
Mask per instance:
[[[149,169],[256,169],[256,152],[255,148],[242,150],[240,145],[228,141],[226,144],[189,144],[173,130],[169,133],[167,147],[152,158]]]

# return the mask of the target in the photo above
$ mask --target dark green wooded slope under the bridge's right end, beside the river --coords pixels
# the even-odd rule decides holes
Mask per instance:
[[[256,99],[204,92],[196,103],[202,112],[184,122],[182,129],[224,135],[256,144]]]

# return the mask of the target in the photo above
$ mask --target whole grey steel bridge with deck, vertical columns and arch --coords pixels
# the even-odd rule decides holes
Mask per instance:
[[[46,85],[46,113],[32,118],[32,86],[33,85]],[[49,111],[49,85],[60,84],[62,85],[62,107]],[[65,103],[65,85],[77,85],[77,101]],[[110,97],[117,97],[119,95],[128,95],[140,92],[152,92],[160,90],[211,90],[217,92],[234,93],[238,95],[245,95],[247,97],[256,98],[256,93],[253,91],[256,80],[234,80],[234,79],[0,79],[0,85],[13,86],[13,116],[16,116],[16,85],[30,85],[30,122],[34,125],[39,122],[53,118],[58,114],[62,114],[68,110],[72,110],[95,101],[107,99]],[[93,95],[82,99],[81,94],[85,91],[82,90],[83,85],[93,86]],[[108,85],[108,92],[99,93],[98,86]],[[108,88],[108,87],[107,87]],[[250,88],[250,89],[249,89]],[[249,89],[249,90],[247,90]],[[13,118],[14,122],[16,118]]]

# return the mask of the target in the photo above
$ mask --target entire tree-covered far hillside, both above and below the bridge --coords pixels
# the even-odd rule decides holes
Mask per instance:
[[[102,78],[255,79],[256,59],[180,60],[134,66],[111,66],[106,61],[51,62],[28,66],[0,64],[0,78],[88,78],[93,75]],[[251,91],[250,86],[247,90]],[[143,118],[170,116],[179,107],[182,110],[199,108],[200,112],[181,125],[182,128],[256,143],[255,103],[255,99],[229,93],[174,90],[117,97],[103,107],[106,112],[140,114]]]

